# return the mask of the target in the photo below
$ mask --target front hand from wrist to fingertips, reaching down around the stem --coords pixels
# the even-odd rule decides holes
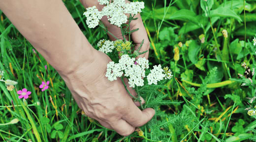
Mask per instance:
[[[120,78],[110,82],[105,77],[107,63],[111,61],[106,54],[95,51],[92,56],[95,60],[91,64],[81,64],[63,79],[86,115],[96,119],[102,126],[128,136],[135,127],[147,123],[155,111],[151,108],[141,111]]]

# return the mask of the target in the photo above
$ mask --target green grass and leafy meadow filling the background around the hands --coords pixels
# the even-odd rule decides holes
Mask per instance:
[[[150,66],[168,66],[174,77],[154,90],[163,101],[144,96],[157,114],[128,137],[85,116],[0,11],[0,142],[256,142],[256,0],[143,1]],[[108,38],[87,27],[79,0],[64,3],[95,48]],[[11,91],[4,80],[18,84]],[[17,94],[23,88],[32,92],[25,101]]]

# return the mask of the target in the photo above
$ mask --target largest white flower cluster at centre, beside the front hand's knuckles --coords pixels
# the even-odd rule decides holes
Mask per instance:
[[[130,87],[143,86],[145,78],[145,69],[149,68],[148,60],[146,58],[139,58],[135,63],[135,58],[131,58],[128,55],[123,55],[119,60],[119,63],[113,61],[107,64],[106,77],[110,81],[117,80],[117,77],[122,77],[125,73],[125,77],[128,78],[128,84]]]

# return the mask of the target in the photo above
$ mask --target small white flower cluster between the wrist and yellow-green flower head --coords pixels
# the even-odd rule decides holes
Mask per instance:
[[[98,51],[101,51],[105,54],[111,53],[113,51],[113,49],[115,48],[113,41],[105,40],[105,39],[101,39],[98,42],[97,46],[99,47]]]

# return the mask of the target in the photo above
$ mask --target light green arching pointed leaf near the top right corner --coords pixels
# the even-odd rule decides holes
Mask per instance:
[[[236,19],[238,22],[242,22],[242,19],[240,18],[240,16],[238,16],[234,11],[227,9],[225,7],[218,7],[217,9],[211,10],[211,16],[215,17],[215,16],[220,16],[220,17],[231,17]]]

